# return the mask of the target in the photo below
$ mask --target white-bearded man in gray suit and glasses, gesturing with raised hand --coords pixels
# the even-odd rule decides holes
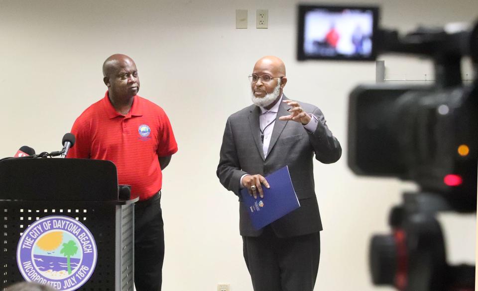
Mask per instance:
[[[239,230],[255,291],[312,291],[320,258],[322,223],[315,194],[313,157],[336,162],[342,148],[319,108],[289,100],[284,63],[267,56],[255,63],[252,102],[226,123],[217,175],[239,196]],[[263,197],[264,176],[287,165],[300,208],[256,230],[240,189]]]

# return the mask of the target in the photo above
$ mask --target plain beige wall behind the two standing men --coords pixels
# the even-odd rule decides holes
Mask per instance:
[[[380,4],[382,23],[400,30],[470,21],[478,11],[476,0],[362,2]],[[249,29],[235,29],[237,8],[249,10]],[[257,8],[269,9],[269,29],[253,28]],[[345,149],[335,164],[315,163],[325,228],[316,290],[373,289],[369,237],[388,230],[390,207],[413,185],[358,178],[347,167],[348,92],[374,81],[374,64],[297,62],[296,0],[0,0],[0,44],[0,156],[23,145],[60,149],[75,118],[106,90],[105,58],[119,52],[135,60],[140,95],[165,109],[179,144],[164,172],[166,291],[212,291],[219,282],[251,290],[238,202],[215,171],[227,117],[250,104],[253,63],[263,55],[281,57],[286,94],[319,106]],[[393,77],[431,73],[424,61],[382,59]],[[447,223],[471,242],[466,248],[450,241],[450,255],[474,263],[475,218]]]

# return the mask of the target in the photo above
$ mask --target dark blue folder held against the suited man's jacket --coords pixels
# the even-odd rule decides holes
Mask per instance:
[[[271,173],[265,179],[270,188],[267,189],[261,185],[264,198],[260,198],[259,192],[257,192],[257,199],[254,199],[249,195],[247,188],[240,190],[242,201],[247,206],[247,212],[255,229],[260,229],[300,207],[287,166]]]

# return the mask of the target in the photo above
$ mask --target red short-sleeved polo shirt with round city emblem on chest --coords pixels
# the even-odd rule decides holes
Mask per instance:
[[[178,150],[164,110],[137,95],[129,113],[122,115],[116,112],[107,91],[76,119],[71,133],[76,142],[68,157],[113,161],[119,184],[131,185],[131,196],[139,196],[139,200],[161,190],[158,156]]]

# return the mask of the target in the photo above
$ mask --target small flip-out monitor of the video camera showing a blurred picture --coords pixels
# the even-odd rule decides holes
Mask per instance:
[[[374,60],[376,11],[300,6],[298,59]]]

